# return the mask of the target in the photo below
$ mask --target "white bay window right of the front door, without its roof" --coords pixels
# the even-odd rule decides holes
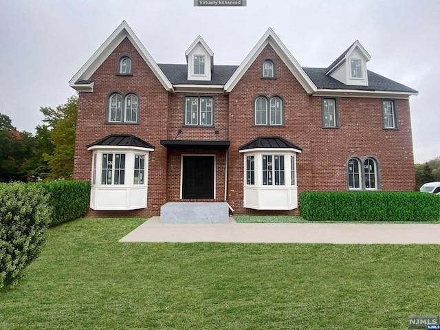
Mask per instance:
[[[255,210],[293,210],[298,208],[296,154],[300,153],[300,150],[254,148],[239,152],[244,155],[243,195],[245,208]],[[268,156],[272,156],[271,183],[267,180],[267,162],[271,158]],[[276,168],[275,157],[278,162],[283,160],[282,166]],[[252,168],[249,168],[250,164],[252,164]],[[276,175],[278,175],[278,180]],[[283,179],[281,179],[281,175]]]

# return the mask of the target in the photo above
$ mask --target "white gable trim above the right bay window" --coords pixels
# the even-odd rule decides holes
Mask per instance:
[[[295,78],[303,86],[307,93],[312,94],[314,91],[316,91],[316,86],[314,85],[313,81],[311,81],[309,76],[305,74],[303,68],[299,65],[294,56],[290,54],[289,50],[287,50],[287,47],[285,47],[275,32],[269,28],[261,37],[259,42],[256,43],[250,54],[246,56],[238,69],[236,69],[236,72],[232,75],[230,80],[228,80],[228,83],[225,84],[225,92],[230,92],[232,89],[234,89],[236,83],[238,83],[245,72],[248,71],[250,65],[252,65],[256,57],[259,56],[267,45],[272,46],[276,54],[280,56],[281,60],[285,63],[285,65],[287,65],[289,70],[292,72],[292,74],[294,74]]]

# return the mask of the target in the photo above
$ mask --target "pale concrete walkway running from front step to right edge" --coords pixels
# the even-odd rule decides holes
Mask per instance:
[[[171,224],[152,217],[120,242],[440,244],[440,224],[236,223]]]

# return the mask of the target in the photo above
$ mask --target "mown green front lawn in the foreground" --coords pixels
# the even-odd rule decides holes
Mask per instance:
[[[0,289],[0,329],[407,329],[440,314],[440,245],[118,243],[80,219]]]

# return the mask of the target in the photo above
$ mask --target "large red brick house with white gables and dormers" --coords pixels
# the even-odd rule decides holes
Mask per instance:
[[[74,179],[89,215],[146,217],[170,201],[296,214],[305,190],[414,190],[409,96],[355,41],[300,67],[267,30],[241,65],[157,64],[124,21],[69,81],[79,92]]]

